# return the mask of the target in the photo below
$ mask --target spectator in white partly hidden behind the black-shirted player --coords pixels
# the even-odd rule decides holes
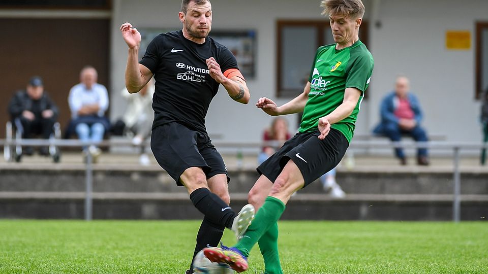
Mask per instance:
[[[139,163],[148,165],[149,157],[145,153],[145,141],[151,136],[151,127],[153,126],[154,110],[153,94],[154,80],[150,80],[139,92],[129,93],[124,88],[122,97],[127,100],[127,110],[124,116],[115,123],[114,134],[124,135],[125,133],[133,134],[132,144],[140,146],[141,155]]]

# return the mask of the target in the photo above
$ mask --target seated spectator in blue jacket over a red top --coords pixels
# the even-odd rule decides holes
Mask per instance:
[[[412,136],[417,142],[428,141],[425,130],[420,126],[422,111],[419,101],[409,92],[409,89],[408,78],[404,76],[396,78],[395,90],[387,94],[381,102],[381,122],[373,130],[374,133],[385,135],[391,141],[400,141],[404,134]],[[407,164],[402,148],[395,148],[395,156],[400,159],[402,165]],[[418,149],[417,163],[429,165],[426,148]]]

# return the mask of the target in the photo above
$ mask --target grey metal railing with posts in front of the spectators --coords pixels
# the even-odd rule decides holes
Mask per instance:
[[[84,147],[96,145],[100,147],[107,146],[132,146],[129,139],[127,140],[106,140],[102,142],[80,141],[80,140],[63,140],[63,139],[0,139],[0,145],[6,149],[9,146],[50,146],[57,147]],[[148,145],[148,142],[146,143]],[[262,146],[280,146],[281,143],[276,141],[269,142],[214,142],[218,148],[260,148]],[[353,141],[349,150],[354,149],[372,149],[372,148],[428,148],[434,150],[452,150],[453,152],[453,201],[452,201],[452,220],[459,222],[461,220],[461,172],[460,172],[460,151],[461,150],[481,150],[488,149],[487,143],[473,142],[388,142],[388,141]],[[93,212],[93,159],[87,153],[85,172],[85,220],[92,220]]]

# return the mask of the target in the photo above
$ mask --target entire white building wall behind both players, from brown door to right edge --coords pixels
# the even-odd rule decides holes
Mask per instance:
[[[371,2],[365,1],[367,15]],[[225,141],[259,141],[272,117],[254,106],[259,97],[276,98],[276,21],[278,19],[320,19],[318,0],[212,0],[214,30],[255,29],[257,31],[256,77],[248,79],[251,102],[240,105],[221,88],[212,101],[206,125],[210,134]],[[114,0],[112,17],[111,117],[120,116],[125,104],[119,96],[124,86],[127,46],[119,26],[126,21],[136,27],[179,29],[180,1]],[[370,9],[370,10],[368,10]],[[445,135],[449,141],[478,141],[479,104],[474,100],[475,21],[488,21],[488,1],[469,0],[383,0],[377,19],[371,23],[369,48],[375,58],[375,71],[369,98],[361,105],[356,133],[367,134],[378,122],[382,96],[392,89],[398,73],[410,77],[412,91],[420,98],[425,112],[424,126],[429,133]],[[325,20],[325,19],[324,19]],[[446,30],[470,30],[472,48],[445,49]],[[279,105],[288,99],[277,99]],[[293,129],[296,116],[287,117]]]

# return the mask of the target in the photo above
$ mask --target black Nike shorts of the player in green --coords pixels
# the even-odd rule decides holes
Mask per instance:
[[[309,185],[337,166],[349,147],[346,137],[337,129],[331,128],[324,140],[318,139],[319,135],[318,130],[296,133],[256,170],[274,183],[291,159],[305,180],[303,187]]]

